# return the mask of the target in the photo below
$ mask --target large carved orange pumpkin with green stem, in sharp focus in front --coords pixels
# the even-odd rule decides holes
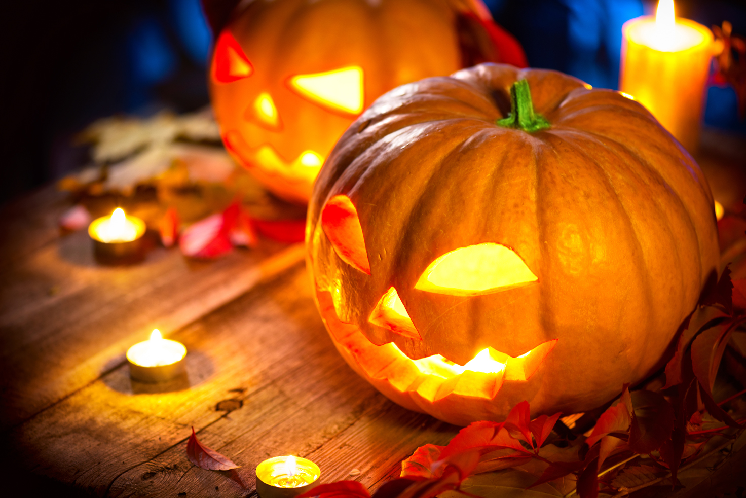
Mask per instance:
[[[374,102],[316,181],[306,240],[345,360],[461,425],[645,379],[718,264],[707,182],[642,105],[495,64]]]

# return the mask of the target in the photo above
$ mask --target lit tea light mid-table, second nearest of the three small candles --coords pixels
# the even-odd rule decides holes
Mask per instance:
[[[158,329],[150,340],[137,343],[127,350],[130,377],[140,382],[163,382],[184,373],[184,344],[164,339]]]

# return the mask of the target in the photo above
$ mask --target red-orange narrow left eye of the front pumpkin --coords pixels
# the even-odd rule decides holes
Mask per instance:
[[[371,274],[363,228],[348,196],[339,194],[327,201],[322,211],[322,230],[342,261]]]

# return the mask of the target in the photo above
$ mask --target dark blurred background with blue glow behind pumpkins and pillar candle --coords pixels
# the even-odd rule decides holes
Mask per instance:
[[[207,105],[210,31],[199,0],[10,3],[0,19],[0,202],[81,166],[86,151],[71,138],[94,119]],[[618,81],[621,25],[654,9],[642,0],[486,3],[530,66],[609,88]],[[727,19],[746,34],[742,0],[677,0],[677,13],[708,26]],[[746,134],[733,89],[709,88],[705,122]]]

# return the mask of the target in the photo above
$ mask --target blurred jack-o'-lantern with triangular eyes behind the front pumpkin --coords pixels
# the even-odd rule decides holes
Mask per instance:
[[[213,51],[213,109],[233,158],[291,202],[308,201],[336,140],[384,92],[484,61],[525,65],[481,0],[253,0],[237,9]]]

